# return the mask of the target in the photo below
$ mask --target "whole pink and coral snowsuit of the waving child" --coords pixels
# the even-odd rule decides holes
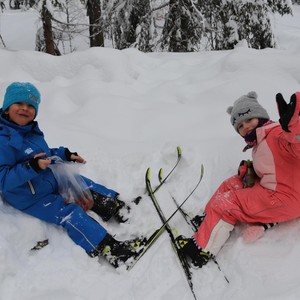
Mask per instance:
[[[272,123],[256,129],[253,167],[259,180],[243,188],[238,176],[225,180],[205,207],[206,217],[194,238],[216,255],[237,221],[285,222],[300,217],[300,92],[289,123],[290,132]]]

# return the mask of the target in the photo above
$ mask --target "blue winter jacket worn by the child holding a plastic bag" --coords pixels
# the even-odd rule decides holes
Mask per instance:
[[[65,148],[49,148],[37,122],[18,126],[0,116],[0,191],[17,209],[24,210],[49,194],[58,193],[51,170],[37,173],[29,164],[34,155],[42,152],[46,157],[57,155],[66,160]]]

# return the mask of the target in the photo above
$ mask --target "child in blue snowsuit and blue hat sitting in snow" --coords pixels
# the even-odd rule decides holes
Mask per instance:
[[[69,203],[58,192],[58,182],[49,165],[52,156],[83,163],[68,148],[49,148],[38,123],[40,93],[31,83],[8,86],[0,110],[0,192],[14,208],[65,228],[69,237],[89,255],[103,255],[118,267],[137,252],[129,242],[115,240],[80,205]],[[92,196],[91,207],[105,221],[117,216],[124,202],[113,190],[82,177]]]

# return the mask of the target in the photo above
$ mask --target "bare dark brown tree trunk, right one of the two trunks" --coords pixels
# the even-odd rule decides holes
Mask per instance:
[[[90,22],[90,47],[104,47],[104,36],[101,27],[100,0],[88,0],[86,4],[87,15]]]

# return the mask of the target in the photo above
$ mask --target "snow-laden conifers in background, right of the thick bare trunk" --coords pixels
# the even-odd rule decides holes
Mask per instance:
[[[273,16],[292,13],[290,0],[115,1],[114,45],[141,51],[224,50],[242,41],[255,49],[275,47]]]

